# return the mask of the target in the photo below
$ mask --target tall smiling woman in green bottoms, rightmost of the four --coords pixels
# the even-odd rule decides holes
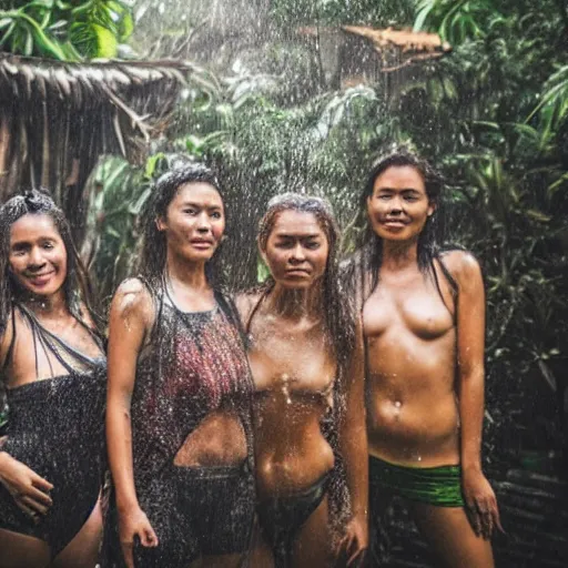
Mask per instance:
[[[487,568],[500,525],[480,458],[484,284],[474,256],[436,246],[440,190],[403,151],[375,164],[363,194],[368,231],[352,267],[363,291],[371,500],[408,499],[436,566]]]

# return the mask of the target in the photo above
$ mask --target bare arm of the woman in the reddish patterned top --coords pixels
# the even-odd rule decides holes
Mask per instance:
[[[133,566],[131,549],[135,537],[144,546],[158,544],[136,497],[131,425],[136,362],[152,318],[152,300],[144,286],[136,280],[121,284],[112,301],[109,318],[106,444],[116,493],[121,542],[129,566]]]

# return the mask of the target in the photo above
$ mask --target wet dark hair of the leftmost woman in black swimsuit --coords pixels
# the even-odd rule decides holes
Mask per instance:
[[[10,229],[24,215],[47,215],[55,225],[67,252],[67,274],[63,282],[65,305],[70,314],[87,325],[82,315],[84,306],[97,331],[102,333],[103,323],[93,311],[93,293],[87,268],[84,267],[71,235],[71,227],[53,200],[42,191],[31,190],[8,200],[0,207],[0,333],[6,329],[12,303],[26,301],[30,293],[13,277],[10,270]]]

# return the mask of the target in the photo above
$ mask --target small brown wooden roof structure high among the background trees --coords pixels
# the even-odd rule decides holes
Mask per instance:
[[[416,63],[439,59],[452,47],[436,33],[375,29],[364,26],[300,28],[297,33],[315,44],[328,87],[376,83],[385,74],[400,74]]]

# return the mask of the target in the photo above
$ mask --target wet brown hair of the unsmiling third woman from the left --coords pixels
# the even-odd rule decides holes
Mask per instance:
[[[332,205],[327,200],[300,193],[284,193],[273,197],[258,225],[258,246],[266,250],[268,237],[281,213],[297,211],[311,213],[324,232],[327,244],[327,264],[323,277],[322,306],[325,333],[337,359],[337,378],[346,379],[347,366],[355,346],[355,325],[351,304],[343,296],[338,280],[339,232]],[[264,283],[265,294],[274,287],[272,276]]]

